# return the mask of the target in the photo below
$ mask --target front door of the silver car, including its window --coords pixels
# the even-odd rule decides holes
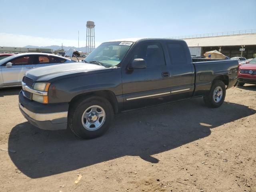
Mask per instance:
[[[11,62],[11,66],[6,63]],[[20,56],[4,63],[2,67],[2,77],[4,86],[21,85],[25,73],[34,68],[33,56]]]

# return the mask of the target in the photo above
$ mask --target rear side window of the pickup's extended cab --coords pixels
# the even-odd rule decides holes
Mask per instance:
[[[169,56],[173,65],[184,65],[186,62],[186,53],[179,43],[169,43],[167,44]]]

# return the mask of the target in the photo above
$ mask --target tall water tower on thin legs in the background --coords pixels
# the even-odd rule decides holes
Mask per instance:
[[[86,53],[92,52],[95,48],[94,27],[93,21],[86,22]]]

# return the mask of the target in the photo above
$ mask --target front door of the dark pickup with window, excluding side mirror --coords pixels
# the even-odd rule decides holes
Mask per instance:
[[[122,66],[124,110],[160,104],[170,99],[169,67],[160,42],[136,44],[130,62]],[[136,59],[146,61],[146,68],[129,70]]]

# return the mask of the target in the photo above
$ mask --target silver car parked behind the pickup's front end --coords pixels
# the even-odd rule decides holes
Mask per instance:
[[[74,61],[62,56],[45,53],[15,54],[0,60],[0,88],[21,86],[25,73],[33,68]]]

